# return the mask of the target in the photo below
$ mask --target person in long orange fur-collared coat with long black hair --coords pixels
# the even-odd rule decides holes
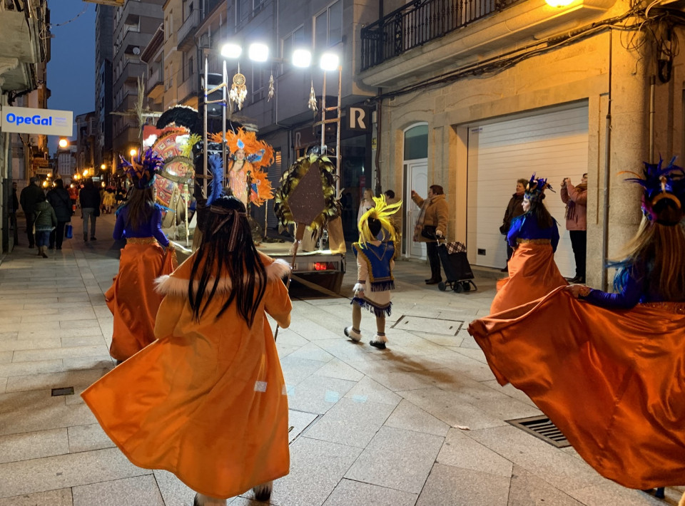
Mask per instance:
[[[195,506],[251,487],[268,500],[290,470],[288,396],[266,317],[290,324],[289,268],[257,251],[245,206],[222,194],[207,202],[198,250],[158,281],[158,340],[82,394],[133,464],[175,474],[198,492]]]

